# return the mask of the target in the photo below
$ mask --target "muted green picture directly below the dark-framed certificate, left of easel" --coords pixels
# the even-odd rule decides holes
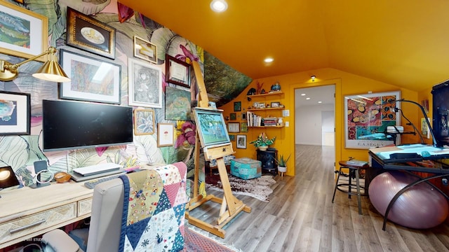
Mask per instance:
[[[166,87],[166,120],[192,120],[190,92]]]

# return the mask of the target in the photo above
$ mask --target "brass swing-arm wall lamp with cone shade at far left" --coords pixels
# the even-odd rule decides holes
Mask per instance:
[[[48,48],[48,50],[42,52],[40,55],[36,55],[34,57],[31,57],[16,64],[11,64],[6,60],[0,60],[0,80],[1,81],[14,80],[19,75],[18,71],[19,66],[27,62],[30,62],[34,59],[37,59],[38,57],[41,57],[43,55],[48,55],[47,62],[45,62],[43,66],[41,66],[41,68],[36,71],[36,73],[33,73],[33,77],[39,78],[41,80],[48,80],[54,82],[70,81],[70,78],[67,77],[67,74],[65,74],[60,64],[58,64],[58,59],[56,59],[55,53],[56,48],[51,46]]]

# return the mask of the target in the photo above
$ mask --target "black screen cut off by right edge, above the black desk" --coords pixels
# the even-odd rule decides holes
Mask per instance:
[[[436,140],[436,146],[449,146],[449,80],[432,87],[432,106],[434,115],[432,127]]]

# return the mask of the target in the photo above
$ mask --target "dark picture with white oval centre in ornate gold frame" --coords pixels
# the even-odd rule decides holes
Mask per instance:
[[[67,7],[67,45],[115,59],[114,27]]]

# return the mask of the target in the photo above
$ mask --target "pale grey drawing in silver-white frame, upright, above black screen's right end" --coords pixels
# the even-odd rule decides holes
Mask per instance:
[[[162,71],[159,67],[128,58],[128,104],[162,108]]]

